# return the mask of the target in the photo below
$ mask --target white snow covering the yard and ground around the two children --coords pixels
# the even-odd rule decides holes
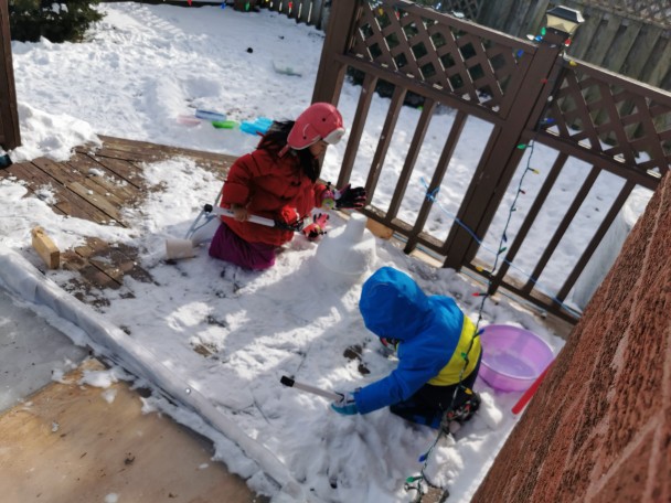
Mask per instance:
[[[241,13],[217,7],[104,3],[100,9],[107,15],[85,43],[12,42],[23,141],[9,152],[14,162],[39,156],[67,159],[75,146],[99,145],[96,135],[242,154],[255,147],[253,136],[184,117],[194,118],[200,108],[238,122],[259,117],[292,119],[311,99],[323,33],[310,26],[267,11]],[[356,86],[343,86],[339,108],[345,125],[352,124],[359,93]],[[354,184],[365,180],[387,106],[387,99],[373,98],[352,174]],[[382,208],[394,192],[418,117],[419,111],[412,108],[401,111],[375,193],[374,204]],[[414,221],[420,206],[426,190],[422,178],[430,179],[452,118],[450,110],[440,110],[432,121],[401,207],[401,216],[408,221]],[[439,238],[449,232],[451,215],[484,147],[480,139],[490,128],[478,119],[466,124],[438,205],[427,222],[427,229]],[[323,178],[337,178],[344,143],[329,149]],[[525,192],[534,194],[554,158],[540,147],[528,149],[526,156],[522,165],[532,156],[532,165],[542,172],[525,178]],[[551,193],[550,206],[571,201],[576,181],[588,169],[577,162],[568,164]],[[503,210],[483,242],[480,254],[486,261],[492,261],[488,249],[498,249],[505,206],[518,195],[523,172],[513,180]],[[356,222],[354,231],[345,232],[350,226],[337,214],[331,215],[331,229],[320,245],[298,236],[268,271],[251,272],[214,260],[205,247],[196,248],[194,258],[169,265],[162,260],[166,240],[184,236],[202,204],[215,199],[221,180],[188,159],[148,164],[145,176],[161,190],[150,191],[140,206],[125,208],[132,228],[54,214],[49,207],[53,200],[50,186],[28,196],[15,180],[0,183],[4,210],[0,283],[13,296],[10,308],[14,309],[9,314],[0,304],[0,322],[4,333],[10,318],[21,327],[9,332],[9,340],[19,339],[12,333],[33,333],[30,323],[44,320],[76,344],[93,347],[117,365],[103,374],[86,375],[86,384],[105,388],[115,379],[130,379],[128,373],[132,373],[156,390],[142,398],[145,411],[162,410],[211,438],[216,460],[276,501],[409,500],[413,493],[406,493],[403,483],[418,473],[417,459],[433,443],[433,430],[407,424],[386,409],[342,417],[330,410],[324,398],[284,387],[279,379],[288,375],[324,389],[349,390],[394,368],[395,362],[380,353],[376,338],[365,330],[358,311],[362,282],[379,267],[396,267],[411,274],[427,293],[456,298],[473,321],[479,318],[481,300],[472,293],[481,286],[454,270],[407,257],[393,242],[374,238],[368,231],[354,232]],[[553,256],[539,286],[551,293],[561,288],[568,260],[588,240],[584,231],[600,223],[605,212],[599,210],[608,207],[620,185],[613,175],[599,176],[567,233],[571,246]],[[646,196],[640,195],[643,201]],[[509,238],[532,202],[531,195],[519,203]],[[645,202],[636,207],[640,213]],[[530,235],[535,248],[521,253],[511,271],[523,276],[524,270],[533,269],[543,250],[541,237],[558,225],[557,213],[541,214]],[[30,231],[35,225],[49,229],[61,249],[82,244],[84,236],[137,247],[142,250],[141,266],[150,270],[156,283],[126,278],[120,290],[99,292],[109,303],[94,310],[56,286],[73,272],[56,270],[44,276],[36,271],[40,259],[30,246]],[[337,260],[338,254],[329,249],[342,247],[347,236],[352,247],[345,243],[340,249],[355,253],[356,274],[343,271],[347,261]],[[598,283],[603,274],[589,272],[587,283]],[[135,297],[125,296],[129,290]],[[40,319],[25,314],[26,308]],[[490,323],[531,330],[555,354],[564,343],[541,318],[505,298],[483,303],[481,325]],[[4,333],[1,355],[9,351]],[[350,347],[360,349],[360,356],[345,357]],[[53,360],[44,364],[57,381],[76,356],[50,352]],[[370,374],[362,375],[360,365]],[[10,402],[30,390],[18,384],[9,386]],[[428,474],[449,489],[455,502],[470,500],[516,422],[510,409],[519,393],[498,393],[481,379],[477,389],[482,396],[479,414],[458,432],[456,442],[441,440],[429,458]],[[105,399],[114,396],[105,395]],[[106,501],[123,502],[123,493],[109,494]]]

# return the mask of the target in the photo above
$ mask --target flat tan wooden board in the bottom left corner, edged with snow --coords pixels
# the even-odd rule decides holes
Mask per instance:
[[[156,413],[126,383],[79,385],[95,360],[0,416],[0,494],[7,503],[259,501],[212,461],[211,443]],[[116,499],[115,499],[116,501]],[[267,501],[262,499],[260,501]]]

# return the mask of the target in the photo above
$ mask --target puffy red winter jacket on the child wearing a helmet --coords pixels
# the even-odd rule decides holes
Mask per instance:
[[[300,217],[309,216],[321,206],[327,188],[306,176],[298,158],[289,151],[281,158],[267,150],[255,150],[238,158],[224,183],[221,205],[245,206],[249,215],[281,218],[283,208],[296,208]],[[291,212],[294,213],[294,212]],[[294,232],[268,227],[252,222],[237,222],[222,216],[226,225],[248,243],[281,246],[294,237]]]

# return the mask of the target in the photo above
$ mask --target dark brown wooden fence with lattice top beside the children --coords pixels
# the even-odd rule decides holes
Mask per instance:
[[[337,104],[348,71],[364,75],[338,180],[343,184],[352,176],[364,131],[373,130],[366,121],[375,88],[381,81],[391,83],[393,95],[382,105],[387,107],[386,119],[375,133],[377,146],[370,167],[363,169],[369,192],[364,213],[407,239],[406,253],[422,247],[446,267],[481,276],[490,295],[504,287],[571,320],[576,313],[564,301],[629,194],[636,186],[654,190],[669,171],[671,128],[664,125],[671,124],[671,94],[565,58],[561,54],[565,38],[548,31],[541,42],[532,43],[408,1],[339,0],[332,8],[312,99]],[[408,92],[422,96],[424,106],[413,137],[403,146],[407,153],[398,169],[397,160],[390,165],[385,158]],[[440,131],[443,152],[422,167],[426,171],[426,163],[434,165],[427,176],[427,197],[419,207],[401,211],[408,183],[417,178],[417,159],[432,121],[438,120],[439,107],[451,110],[454,121],[450,129]],[[478,131],[483,150],[447,237],[441,238],[427,225],[436,210],[430,194],[449,188],[452,157],[466,122],[473,118],[489,124]],[[525,169],[521,163],[525,150],[520,146],[530,143],[550,149],[554,161],[537,193],[528,195],[534,197],[533,203],[514,235],[508,236],[496,268],[491,260],[483,264],[478,253],[511,190],[511,180]],[[575,180],[575,193],[557,205],[550,195],[571,161],[585,168]],[[618,178],[619,192],[599,203],[600,223],[596,231],[583,231],[592,234],[562,270],[563,285],[543,291],[537,278],[555,253],[571,244],[567,231],[605,173]],[[396,180],[388,204],[376,192],[381,176]],[[542,211],[552,212],[556,225],[531,239]],[[542,248],[533,270],[521,279],[516,264],[530,243],[536,248],[542,243]]]

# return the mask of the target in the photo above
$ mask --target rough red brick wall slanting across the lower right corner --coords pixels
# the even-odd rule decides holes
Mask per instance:
[[[473,502],[671,502],[671,175]]]

